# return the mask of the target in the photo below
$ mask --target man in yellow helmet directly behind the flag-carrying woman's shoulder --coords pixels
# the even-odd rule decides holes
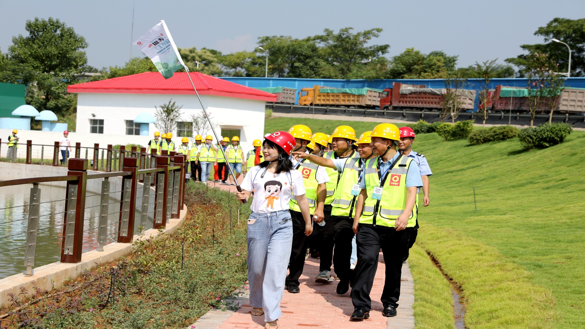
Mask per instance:
[[[305,125],[294,125],[288,132],[295,139],[292,154],[308,154],[305,148],[312,138],[311,129]],[[307,197],[309,203],[309,214],[313,216],[312,220],[317,223],[323,222],[325,217],[323,214],[326,197],[325,184],[329,181],[329,176],[327,176],[325,168],[308,162],[306,159],[297,160],[292,156],[291,163],[295,170],[301,172],[305,187],[305,197]],[[295,197],[291,197],[288,206],[290,207],[292,217],[292,248],[288,262],[289,274],[285,280],[285,287],[290,293],[298,293],[301,291],[298,279],[305,265],[309,237],[305,235],[304,217]]]

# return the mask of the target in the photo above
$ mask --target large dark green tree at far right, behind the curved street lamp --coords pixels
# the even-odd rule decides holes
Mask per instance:
[[[566,72],[569,68],[569,49],[562,43],[551,42],[553,38],[561,40],[569,44],[572,50],[571,76],[585,76],[585,18],[555,18],[546,26],[538,28],[534,35],[542,36],[546,43],[522,44],[520,47],[523,50],[529,54],[549,54],[551,60],[559,63],[559,71]],[[520,75],[524,76],[528,57],[521,54],[506,61],[519,67]]]

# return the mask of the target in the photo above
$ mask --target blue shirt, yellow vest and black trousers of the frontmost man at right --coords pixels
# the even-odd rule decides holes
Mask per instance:
[[[373,198],[374,187],[383,191],[380,199]],[[380,249],[386,263],[384,290],[381,301],[384,306],[398,306],[400,297],[400,276],[402,257],[408,248],[408,231],[414,229],[417,220],[418,198],[408,219],[407,228],[396,231],[395,221],[404,211],[407,187],[422,187],[417,163],[409,157],[397,153],[387,162],[380,157],[367,160],[364,179],[360,189],[367,191],[357,232],[357,266],[352,284],[354,307],[371,309],[370,291],[378,265]]]

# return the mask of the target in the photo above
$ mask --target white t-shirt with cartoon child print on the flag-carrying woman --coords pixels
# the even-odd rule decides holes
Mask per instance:
[[[254,192],[254,200],[250,205],[250,210],[254,213],[288,210],[291,193],[295,196],[305,194],[302,175],[298,170],[280,174],[266,172],[261,177],[265,169],[252,167],[242,182],[242,189]]]

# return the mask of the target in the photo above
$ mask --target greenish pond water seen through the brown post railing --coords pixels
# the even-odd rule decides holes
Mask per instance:
[[[26,232],[28,204],[30,199],[31,184],[1,187],[0,188],[0,279],[25,272]],[[39,184],[41,190],[39,226],[37,231],[37,245],[35,268],[49,263],[58,262],[61,259],[61,246],[63,237],[63,219],[65,209],[66,189],[63,186],[53,184]],[[118,238],[118,221],[120,210],[120,192],[111,193],[108,211],[108,236],[106,244],[116,241]],[[142,196],[142,193],[140,193]],[[98,220],[99,203],[101,196],[87,191],[85,199],[83,252],[98,248]],[[135,217],[135,234],[139,232],[140,225],[140,200],[137,199]],[[149,213],[153,206],[149,208]],[[147,221],[146,229],[153,227],[152,214]],[[16,248],[16,249],[14,249]],[[11,250],[13,249],[13,250]]]

